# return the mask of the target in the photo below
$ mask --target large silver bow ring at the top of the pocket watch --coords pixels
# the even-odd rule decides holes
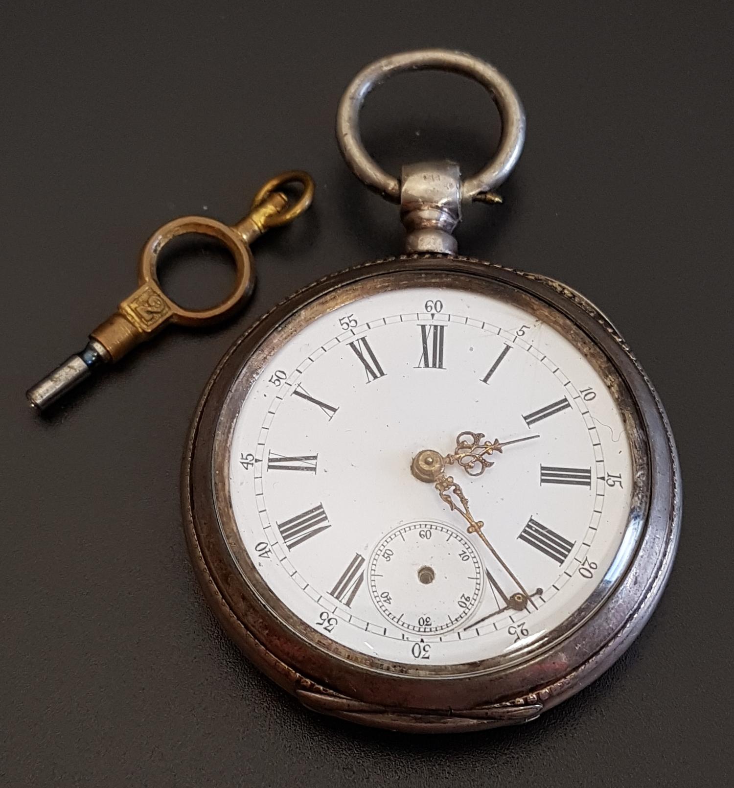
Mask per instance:
[[[336,138],[343,157],[369,188],[394,203],[399,202],[399,180],[386,173],[362,144],[359,113],[369,92],[388,77],[421,70],[468,76],[486,88],[497,105],[502,122],[499,148],[491,162],[462,184],[462,201],[482,199],[481,195],[504,183],[520,158],[525,143],[525,110],[512,85],[494,66],[465,52],[414,50],[382,58],[362,69],[344,92],[336,114]]]

